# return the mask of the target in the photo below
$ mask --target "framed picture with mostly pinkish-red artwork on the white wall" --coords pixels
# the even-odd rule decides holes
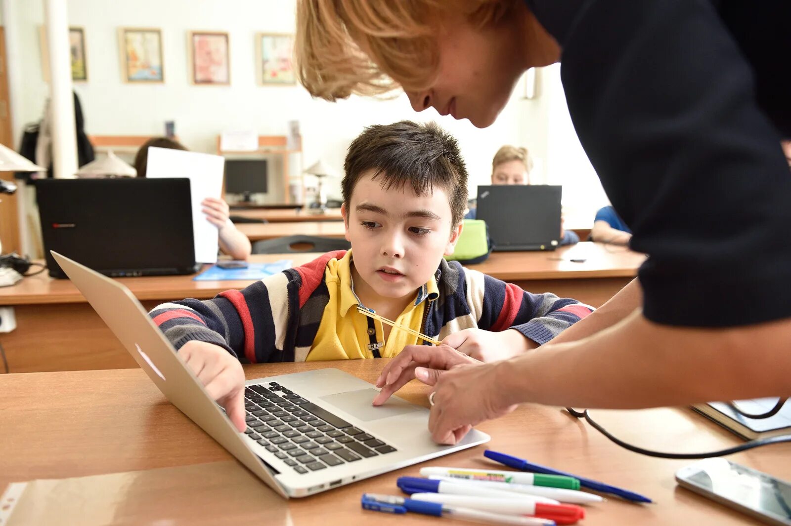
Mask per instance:
[[[192,84],[229,85],[231,83],[228,33],[191,31],[188,49]]]

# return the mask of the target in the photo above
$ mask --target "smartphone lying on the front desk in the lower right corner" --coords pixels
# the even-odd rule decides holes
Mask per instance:
[[[679,486],[766,524],[791,526],[791,483],[724,458],[707,458],[676,472]]]

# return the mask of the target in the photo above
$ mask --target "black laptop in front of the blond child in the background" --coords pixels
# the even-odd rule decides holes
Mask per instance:
[[[486,221],[494,250],[554,250],[561,242],[561,186],[478,187],[476,217]]]

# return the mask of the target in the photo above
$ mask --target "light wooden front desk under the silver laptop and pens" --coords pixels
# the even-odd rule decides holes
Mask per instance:
[[[247,366],[245,372],[248,378],[261,378],[332,366],[373,382],[383,365],[381,360],[273,363]],[[428,392],[429,388],[412,381],[399,396],[426,405]],[[169,404],[142,370],[0,375],[0,393],[3,393],[0,398],[0,429],[3,430],[0,433],[0,491],[12,481],[233,460],[214,439]],[[688,409],[596,411],[596,419],[616,436],[649,449],[691,452],[738,443],[733,435]],[[656,502],[634,505],[610,498],[587,507],[586,518],[580,523],[584,526],[759,524],[757,520],[676,487],[673,478],[676,470],[691,461],[630,453],[558,408],[525,404],[510,415],[481,424],[479,429],[492,436],[486,446],[312,497],[291,499],[286,502],[290,523],[263,520],[261,524],[312,526],[317,524],[317,517],[327,526],[439,524],[433,517],[415,514],[388,517],[361,510],[361,494],[400,494],[395,480],[399,476],[417,476],[419,468],[426,465],[467,468],[498,465],[484,459],[485,447],[625,487]],[[789,444],[755,449],[729,459],[782,479],[791,479]],[[266,518],[267,509],[263,505],[262,508],[261,517]],[[184,510],[168,509],[168,520],[181,524],[177,520],[179,513]],[[200,524],[242,524],[244,521],[240,519],[206,517]]]

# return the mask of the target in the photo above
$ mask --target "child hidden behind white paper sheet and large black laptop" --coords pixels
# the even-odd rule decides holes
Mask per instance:
[[[174,141],[168,137],[153,137],[140,147],[134,156],[134,168],[138,171],[138,177],[146,177],[146,167],[148,166],[148,148],[172,148],[176,150],[186,150],[179,141]],[[239,229],[231,223],[229,219],[229,206],[222,199],[206,197],[201,203],[206,220],[217,227],[219,231],[220,250],[229,254],[233,259],[246,260],[250,257],[252,246],[250,240]]]

